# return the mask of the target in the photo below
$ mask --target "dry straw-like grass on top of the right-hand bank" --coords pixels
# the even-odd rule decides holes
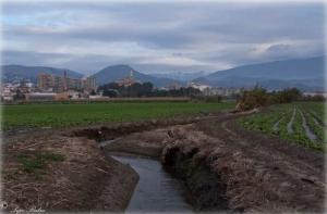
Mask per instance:
[[[213,127],[213,124],[207,126]],[[192,156],[193,162],[204,161],[226,184],[230,209],[323,212],[325,182],[310,162],[306,164],[312,169],[301,164],[300,160],[265,148],[264,143],[259,147],[249,143],[247,147],[244,139],[234,139],[231,137],[233,135],[225,134],[227,130],[221,128],[217,128],[215,137],[199,131],[195,125],[171,131],[173,138],[166,140],[162,155],[171,148],[179,148],[180,153],[185,155],[197,148],[198,152]],[[238,134],[234,133],[234,136]]]

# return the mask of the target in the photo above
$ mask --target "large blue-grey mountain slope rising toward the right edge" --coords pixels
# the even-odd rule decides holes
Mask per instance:
[[[324,56],[276,61],[215,72],[194,81],[222,87],[251,87],[259,84],[268,89],[298,87],[307,91],[323,90],[324,64]]]

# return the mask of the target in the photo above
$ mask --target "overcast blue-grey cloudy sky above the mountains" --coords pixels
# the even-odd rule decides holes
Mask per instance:
[[[323,3],[4,3],[2,63],[214,72],[324,54]]]

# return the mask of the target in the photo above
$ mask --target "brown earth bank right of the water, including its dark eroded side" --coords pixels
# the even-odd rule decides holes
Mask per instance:
[[[323,213],[325,155],[245,130],[239,116],[131,134],[106,149],[160,156],[199,211]]]

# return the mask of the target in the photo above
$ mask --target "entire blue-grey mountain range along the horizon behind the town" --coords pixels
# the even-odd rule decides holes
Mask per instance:
[[[83,76],[71,70],[46,66],[3,65],[1,71],[4,83],[22,78],[36,83],[37,74],[41,72],[62,75],[63,71],[66,71],[70,77],[80,78]],[[135,71],[129,65],[108,66],[92,76],[96,78],[98,85],[104,85],[129,76],[131,71],[133,71],[135,79],[143,83],[152,81],[156,87],[165,87],[172,83],[185,86],[186,81],[192,79],[191,73],[190,75],[182,73],[148,75]],[[305,91],[323,91],[325,88],[325,56],[243,65],[214,72],[209,75],[198,72],[194,73],[193,77],[196,78],[192,81],[215,87],[253,87],[259,84],[270,90],[296,87]]]

